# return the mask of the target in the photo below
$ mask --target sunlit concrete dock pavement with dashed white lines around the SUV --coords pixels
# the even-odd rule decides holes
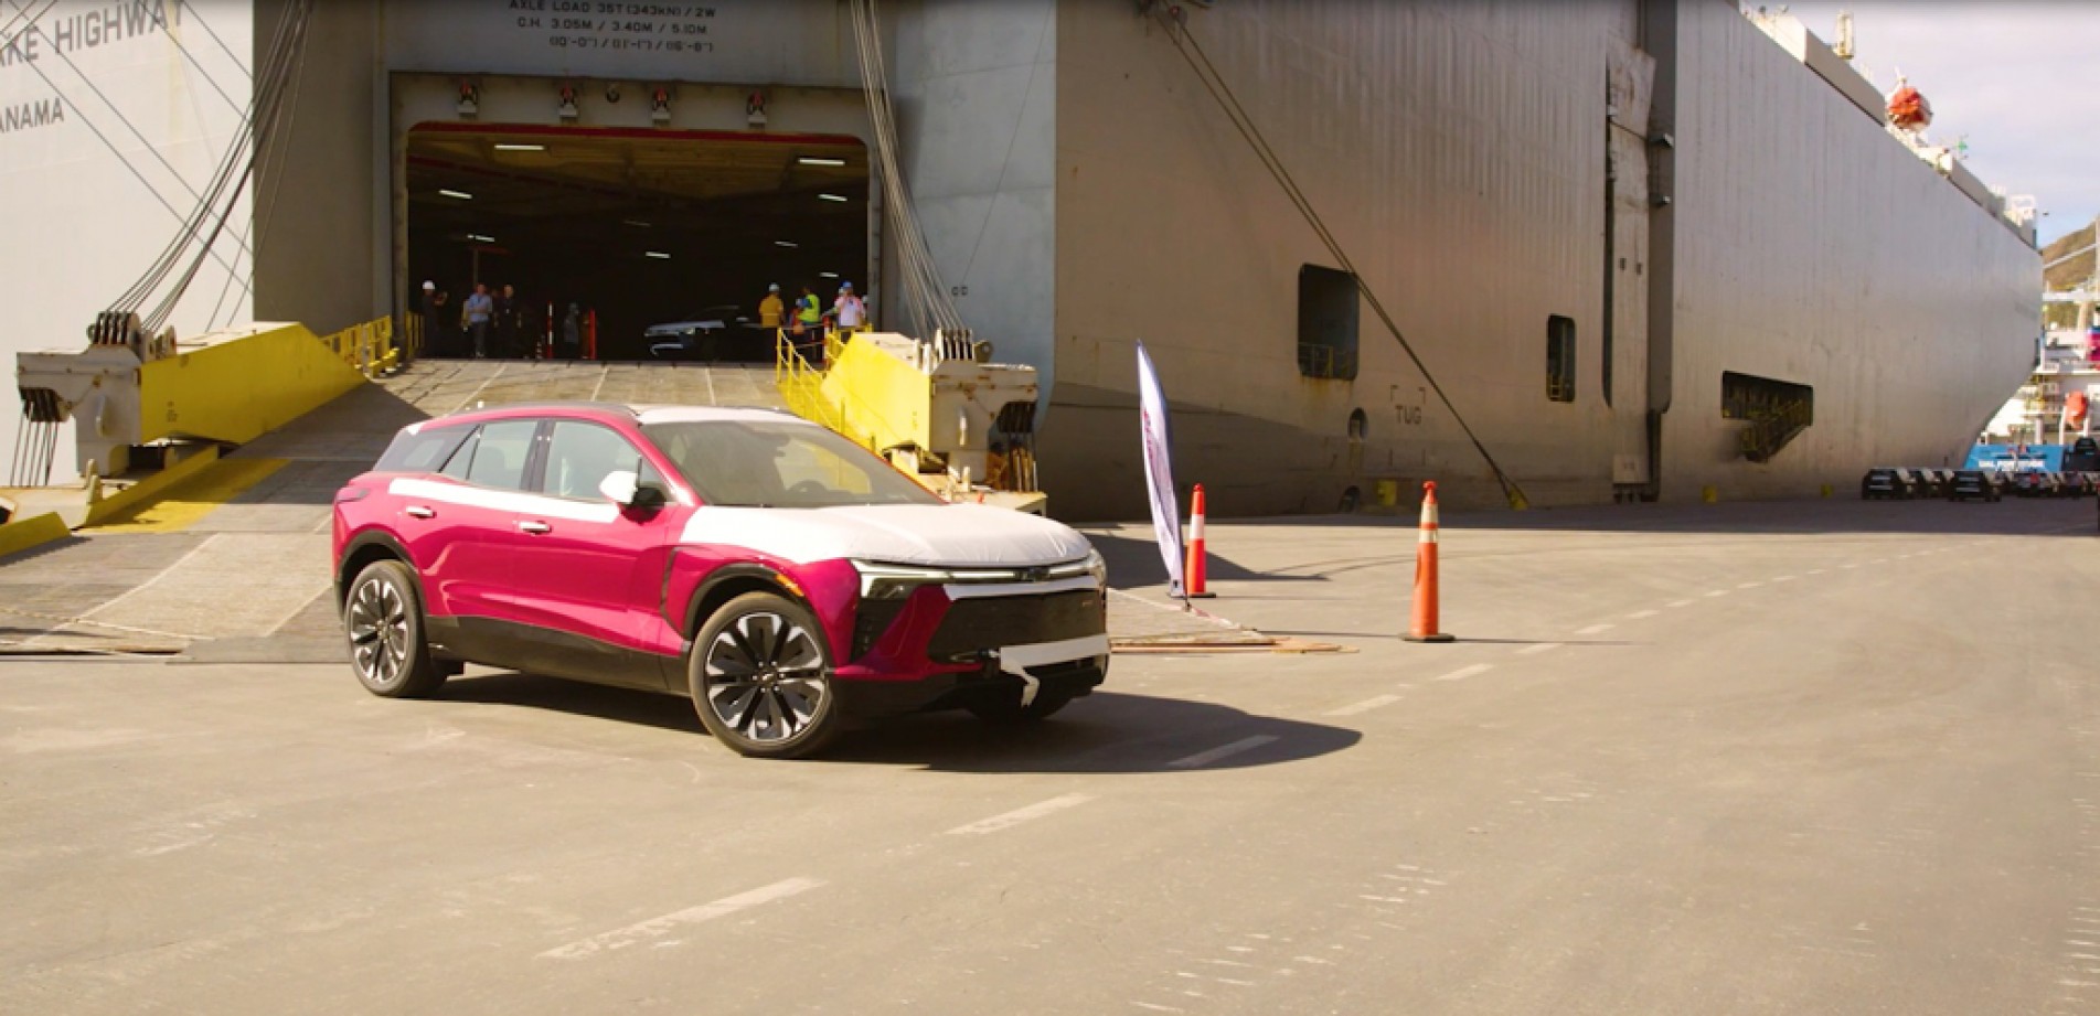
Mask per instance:
[[[2090,502],[1214,523],[1033,731],[0,663],[6,1012],[2100,1012]],[[1142,527],[1092,533],[1149,586]],[[1157,569],[1157,565],[1149,565]]]

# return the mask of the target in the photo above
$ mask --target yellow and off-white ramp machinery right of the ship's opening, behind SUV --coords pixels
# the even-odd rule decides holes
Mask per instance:
[[[1044,514],[1035,487],[1035,367],[991,363],[991,346],[834,330],[821,363],[777,338],[773,380],[796,416],[890,460],[951,502]]]

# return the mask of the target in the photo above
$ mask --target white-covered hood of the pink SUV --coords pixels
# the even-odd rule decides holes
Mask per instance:
[[[930,567],[1023,567],[1084,558],[1092,544],[1063,523],[983,504],[697,508],[685,544],[741,546],[808,565],[859,558]]]

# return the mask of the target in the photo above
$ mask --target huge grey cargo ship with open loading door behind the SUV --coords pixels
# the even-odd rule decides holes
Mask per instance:
[[[1067,518],[1144,512],[1138,342],[1214,514],[1814,498],[1959,460],[2039,334],[2033,202],[1842,48],[1718,0],[57,0],[0,17],[0,353],[132,306],[470,357],[508,285],[649,361],[853,281],[1035,367]]]

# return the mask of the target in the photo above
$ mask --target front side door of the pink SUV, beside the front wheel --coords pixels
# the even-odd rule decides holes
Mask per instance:
[[[519,617],[536,632],[538,665],[550,674],[664,689],[662,659],[643,626],[662,598],[664,563],[685,508],[613,504],[598,485],[630,470],[653,479],[640,449],[590,420],[552,420],[540,477],[521,506],[514,550]],[[659,485],[662,489],[662,485]]]

